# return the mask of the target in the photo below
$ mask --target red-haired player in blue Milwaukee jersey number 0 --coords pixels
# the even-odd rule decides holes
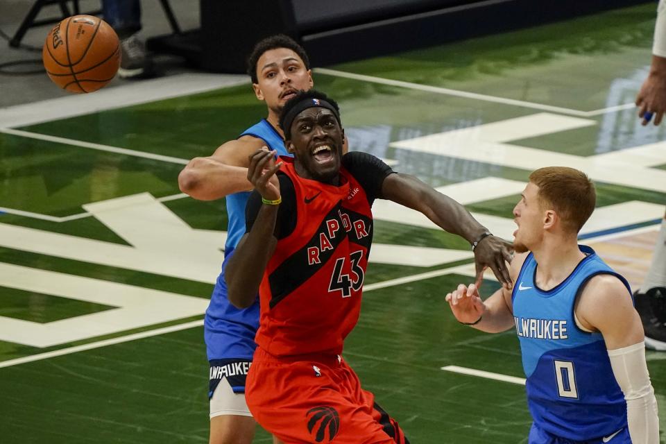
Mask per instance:
[[[518,333],[530,444],[659,443],[629,284],[577,241],[595,201],[581,171],[534,171],[513,209],[513,291],[499,289],[484,302],[475,284],[461,284],[446,295],[459,322]]]

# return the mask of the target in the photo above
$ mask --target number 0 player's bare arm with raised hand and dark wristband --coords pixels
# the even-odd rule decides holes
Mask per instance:
[[[520,267],[527,255],[517,255],[511,262],[511,279],[518,278]],[[511,290],[505,287],[495,291],[490,298],[481,300],[476,284],[460,284],[445,298],[459,323],[487,333],[499,333],[513,327]]]

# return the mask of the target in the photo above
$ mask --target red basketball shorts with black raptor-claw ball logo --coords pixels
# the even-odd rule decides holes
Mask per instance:
[[[246,400],[257,422],[284,444],[409,444],[336,355],[277,358],[257,348]]]

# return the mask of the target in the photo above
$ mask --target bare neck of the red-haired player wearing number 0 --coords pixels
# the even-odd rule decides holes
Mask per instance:
[[[561,284],[585,257],[578,247],[576,237],[546,238],[532,253],[538,264],[536,284],[546,291]]]

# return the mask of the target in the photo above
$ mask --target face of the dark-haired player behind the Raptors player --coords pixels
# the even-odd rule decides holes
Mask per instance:
[[[305,69],[305,63],[291,49],[270,49],[257,60],[255,94],[278,114],[296,92],[307,91],[312,85],[310,70]]]

